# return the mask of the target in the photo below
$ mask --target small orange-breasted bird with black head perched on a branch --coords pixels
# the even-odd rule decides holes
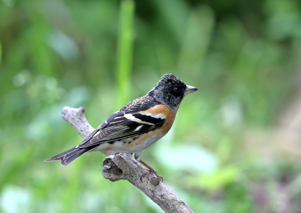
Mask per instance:
[[[153,168],[140,160],[141,151],[166,135],[183,97],[197,90],[178,77],[165,74],[151,91],[108,117],[79,145],[45,161],[61,160],[61,165],[66,166],[91,151],[135,153],[135,159],[148,168],[141,178],[151,172],[162,179]]]

